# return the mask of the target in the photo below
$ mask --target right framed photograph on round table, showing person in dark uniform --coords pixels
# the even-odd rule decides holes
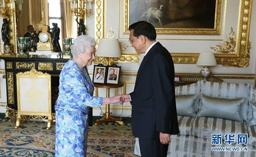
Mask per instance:
[[[121,67],[119,66],[109,66],[107,75],[107,84],[118,84],[120,76]]]

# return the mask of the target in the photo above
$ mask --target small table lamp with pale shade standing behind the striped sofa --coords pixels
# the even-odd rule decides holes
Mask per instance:
[[[196,64],[204,66],[203,69],[200,70],[200,73],[204,76],[204,81],[206,81],[206,78],[209,77],[211,73],[209,66],[215,66],[217,62],[213,53],[200,53]]]

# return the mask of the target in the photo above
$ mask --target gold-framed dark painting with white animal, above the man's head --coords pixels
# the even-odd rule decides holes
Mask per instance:
[[[157,34],[219,35],[223,0],[125,0],[123,33],[148,21]]]

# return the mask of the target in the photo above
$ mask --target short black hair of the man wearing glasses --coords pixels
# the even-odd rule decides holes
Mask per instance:
[[[157,38],[156,29],[151,23],[146,21],[138,21],[129,26],[129,30],[134,30],[134,36],[144,35],[149,40],[155,40]]]

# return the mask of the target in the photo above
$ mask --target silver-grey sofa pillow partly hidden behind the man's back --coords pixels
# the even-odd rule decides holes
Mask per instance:
[[[196,113],[195,113],[194,103],[197,97],[198,97],[197,95],[175,96],[177,115],[195,117]]]

